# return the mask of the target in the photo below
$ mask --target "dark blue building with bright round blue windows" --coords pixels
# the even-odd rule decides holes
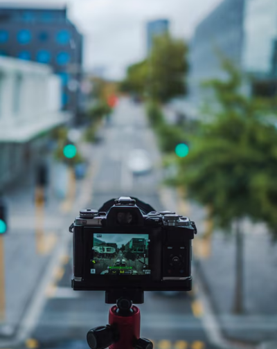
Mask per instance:
[[[0,6],[0,55],[49,64],[62,79],[63,109],[78,113],[83,37],[66,6]]]

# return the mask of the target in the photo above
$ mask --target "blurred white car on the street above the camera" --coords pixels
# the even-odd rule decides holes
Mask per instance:
[[[146,150],[135,149],[129,152],[127,166],[134,174],[145,174],[152,170],[152,161]]]

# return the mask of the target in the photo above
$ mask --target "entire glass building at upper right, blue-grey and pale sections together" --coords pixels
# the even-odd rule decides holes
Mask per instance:
[[[199,105],[201,82],[223,77],[221,57],[253,82],[247,93],[277,93],[277,1],[224,0],[195,30],[190,42],[189,100]]]

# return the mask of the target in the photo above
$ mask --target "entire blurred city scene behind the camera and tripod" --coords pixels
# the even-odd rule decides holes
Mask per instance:
[[[68,228],[134,196],[198,230],[142,337],[276,349],[276,95],[276,0],[0,1],[0,348],[88,348]]]

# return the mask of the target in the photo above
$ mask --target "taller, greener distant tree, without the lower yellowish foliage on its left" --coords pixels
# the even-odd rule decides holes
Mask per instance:
[[[188,47],[184,40],[169,34],[156,37],[148,57],[148,86],[150,98],[167,102],[186,93]]]

